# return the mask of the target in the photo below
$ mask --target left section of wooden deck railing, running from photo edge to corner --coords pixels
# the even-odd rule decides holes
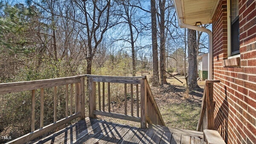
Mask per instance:
[[[31,90],[31,99],[32,99],[32,108],[31,108],[31,132],[26,134],[20,138],[12,140],[9,143],[12,144],[21,144],[24,142],[28,142],[41,136],[55,128],[62,126],[76,118],[81,120],[85,118],[84,115],[84,78],[86,75],[83,76],[73,76],[73,77],[66,77],[66,78],[55,78],[55,79],[48,79],[48,80],[35,80],[35,81],[27,81],[27,82],[13,82],[13,83],[6,83],[0,84],[0,94],[7,94],[12,92],[22,92]],[[66,88],[66,118],[61,120],[57,120],[57,87],[58,86],[65,86]],[[70,91],[68,91],[70,87]],[[74,88],[75,90],[74,90]],[[53,123],[44,126],[44,88],[53,88],[53,102],[54,102],[54,114],[53,114]],[[40,128],[35,130],[35,97],[36,97],[36,90],[40,89]],[[74,93],[75,92],[75,96]],[[68,100],[70,94],[70,112],[68,112]],[[75,102],[75,113],[73,114],[73,99]]]

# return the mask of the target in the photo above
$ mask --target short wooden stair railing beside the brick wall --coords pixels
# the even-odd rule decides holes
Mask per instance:
[[[204,94],[201,105],[200,116],[197,124],[197,131],[202,132],[204,129],[214,130],[214,107],[213,101],[213,84],[220,80],[206,80],[204,86]]]

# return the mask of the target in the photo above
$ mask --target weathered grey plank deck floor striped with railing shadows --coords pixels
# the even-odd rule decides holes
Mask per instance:
[[[85,118],[34,144],[203,144],[203,132],[150,125],[137,128]]]

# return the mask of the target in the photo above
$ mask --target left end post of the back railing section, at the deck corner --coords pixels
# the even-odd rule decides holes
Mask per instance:
[[[89,82],[89,117],[96,118],[94,110],[96,110],[96,82],[93,82],[93,78],[88,78]]]

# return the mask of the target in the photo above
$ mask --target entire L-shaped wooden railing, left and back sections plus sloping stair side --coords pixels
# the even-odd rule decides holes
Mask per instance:
[[[72,120],[78,118],[82,120],[85,118],[85,78],[88,77],[89,89],[89,116],[96,118],[96,115],[110,116],[113,118],[120,118],[140,122],[142,128],[146,128],[148,124],[164,125],[164,121],[152,96],[150,86],[146,76],[137,77],[120,77],[120,76],[96,76],[96,75],[82,75],[72,76],[66,78],[55,78],[48,80],[35,80],[27,82],[13,82],[0,84],[0,94],[8,94],[13,92],[31,91],[31,132],[20,138],[8,142],[8,144],[20,144],[28,142],[41,136],[63,124],[67,124]],[[98,85],[98,101],[96,100],[96,82]],[[105,89],[105,83],[107,88]],[[110,84],[118,83],[124,84],[124,114],[117,114],[111,112],[111,93]],[[65,115],[66,118],[57,120],[57,90],[58,86],[65,86]],[[128,87],[130,86],[130,89]],[[102,87],[102,89],[101,89]],[[53,123],[44,126],[44,89],[53,89]],[[35,104],[36,104],[36,90],[40,90],[40,127],[35,130]],[[105,95],[107,91],[107,95]],[[120,90],[122,91],[122,90]],[[130,94],[130,108],[128,112],[128,94]],[[139,95],[140,94],[140,95]],[[74,101],[73,101],[74,100]],[[105,102],[105,100],[107,100]],[[96,101],[98,102],[98,110],[96,109]],[[134,102],[136,101],[136,102]],[[74,102],[74,106],[73,106]],[[105,105],[107,106],[105,110]],[[135,107],[135,108],[134,108]],[[73,113],[73,108],[75,112]],[[136,111],[136,112],[135,112]]]

